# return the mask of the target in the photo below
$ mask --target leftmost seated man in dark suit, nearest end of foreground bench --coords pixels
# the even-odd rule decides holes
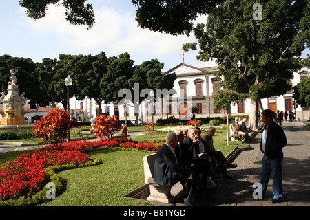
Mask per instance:
[[[192,206],[196,200],[198,185],[196,177],[189,168],[182,166],[178,162],[175,152],[178,140],[175,133],[167,133],[166,142],[159,148],[155,157],[154,181],[161,186],[173,186],[178,181],[184,188],[184,203]]]

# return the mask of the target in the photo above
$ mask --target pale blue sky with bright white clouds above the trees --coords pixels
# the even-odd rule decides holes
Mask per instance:
[[[138,28],[136,8],[130,0],[88,3],[92,3],[96,19],[91,30],[66,21],[63,7],[52,5],[45,18],[32,20],[18,0],[0,0],[0,56],[8,54],[41,62],[43,58],[59,58],[59,54],[96,55],[103,51],[107,56],[118,56],[128,52],[136,65],[157,58],[165,63],[163,71],[167,71],[183,62],[182,45],[196,41],[194,34],[172,36]],[[194,23],[206,23],[206,17]],[[185,52],[185,63],[205,66],[196,60],[196,54],[197,51]]]

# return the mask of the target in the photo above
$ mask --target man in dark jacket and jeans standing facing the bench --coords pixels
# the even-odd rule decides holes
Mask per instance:
[[[262,184],[262,195],[265,195],[271,171],[273,173],[273,199],[271,203],[280,203],[283,197],[282,185],[282,148],[287,145],[287,137],[283,129],[273,121],[273,111],[265,109],[262,111],[262,122],[265,124],[262,131],[260,151],[262,157],[262,168],[260,170],[260,184]]]

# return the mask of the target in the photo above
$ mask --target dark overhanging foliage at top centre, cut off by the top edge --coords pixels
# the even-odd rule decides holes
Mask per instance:
[[[136,21],[141,28],[165,34],[183,34],[192,30],[198,15],[208,14],[224,0],[132,0],[138,6]]]

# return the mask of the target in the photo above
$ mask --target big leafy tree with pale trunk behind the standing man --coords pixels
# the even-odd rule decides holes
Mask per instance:
[[[307,0],[227,0],[212,10],[207,24],[194,28],[198,43],[183,45],[184,50],[199,45],[200,61],[216,58],[223,87],[247,94],[251,129],[257,129],[260,100],[290,89],[287,81],[300,68],[298,56],[307,47],[309,29],[300,27],[307,13]]]

